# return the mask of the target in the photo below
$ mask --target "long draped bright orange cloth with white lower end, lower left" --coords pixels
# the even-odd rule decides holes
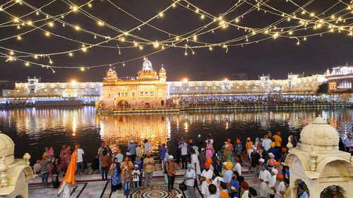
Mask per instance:
[[[75,186],[75,172],[76,172],[76,152],[73,152],[71,155],[71,161],[68,164],[68,168],[65,174],[64,179],[61,181],[61,185],[58,191],[58,197],[63,193],[64,198],[70,197],[70,183]]]

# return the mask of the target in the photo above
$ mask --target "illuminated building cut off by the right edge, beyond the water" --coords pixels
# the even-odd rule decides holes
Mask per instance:
[[[329,93],[352,93],[353,66],[337,66],[327,78]]]

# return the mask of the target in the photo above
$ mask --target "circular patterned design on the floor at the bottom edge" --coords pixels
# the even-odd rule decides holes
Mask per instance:
[[[180,190],[174,189],[172,194],[168,194],[167,186],[143,187],[140,192],[133,192],[131,198],[164,198],[177,197],[177,194],[182,194]]]

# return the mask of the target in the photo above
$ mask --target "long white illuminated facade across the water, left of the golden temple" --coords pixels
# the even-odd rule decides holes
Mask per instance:
[[[28,78],[28,82],[16,82],[15,89],[3,89],[3,97],[97,97],[100,82],[40,82]]]

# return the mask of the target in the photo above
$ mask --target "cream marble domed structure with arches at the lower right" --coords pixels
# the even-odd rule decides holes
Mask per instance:
[[[301,130],[301,147],[289,141],[284,164],[290,171],[290,197],[297,197],[299,180],[306,183],[311,198],[320,197],[330,185],[342,187],[345,197],[353,197],[353,156],[338,149],[339,138],[335,128],[318,116]]]

